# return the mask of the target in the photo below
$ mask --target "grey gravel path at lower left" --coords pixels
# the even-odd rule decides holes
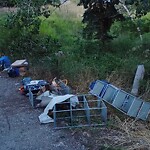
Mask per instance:
[[[0,150],[84,150],[69,130],[40,125],[26,97],[20,95],[19,79],[0,77]]]

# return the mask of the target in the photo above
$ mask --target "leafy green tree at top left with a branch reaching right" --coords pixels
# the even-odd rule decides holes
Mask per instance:
[[[50,10],[45,7],[46,4],[55,5],[48,0],[17,0],[17,12],[8,16],[7,25],[10,28],[15,27],[37,33],[41,23],[39,16],[50,16]]]

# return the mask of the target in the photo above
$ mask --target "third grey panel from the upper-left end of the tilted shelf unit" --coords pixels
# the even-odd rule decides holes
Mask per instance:
[[[117,95],[116,95],[116,97],[115,97],[115,99],[114,99],[112,105],[113,105],[114,107],[117,107],[117,108],[121,109],[121,106],[123,105],[123,102],[124,102],[126,96],[127,96],[127,93],[120,90],[120,91],[117,93]]]

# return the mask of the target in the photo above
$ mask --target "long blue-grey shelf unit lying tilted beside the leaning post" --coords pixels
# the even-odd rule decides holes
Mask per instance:
[[[150,103],[104,81],[97,80],[92,83],[90,93],[130,117],[146,120],[150,113]]]

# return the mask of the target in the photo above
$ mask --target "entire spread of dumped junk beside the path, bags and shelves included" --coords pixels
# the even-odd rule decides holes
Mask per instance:
[[[9,77],[24,77],[29,70],[29,63],[23,59],[16,60],[11,64],[7,56],[2,56],[0,69],[7,72]],[[150,113],[150,103],[113,86],[105,80],[91,82],[89,93],[76,95],[68,86],[67,79],[61,80],[55,77],[52,82],[48,82],[24,77],[19,90],[22,95],[29,97],[33,108],[45,108],[39,116],[40,123],[53,122],[55,128],[58,127],[58,120],[61,120],[60,123],[65,120],[68,121],[65,126],[62,125],[58,128],[106,125],[107,107],[104,102],[137,119],[147,120]],[[94,113],[92,114],[92,112]],[[93,119],[94,117],[96,118]],[[83,123],[84,119],[85,122]],[[92,122],[93,120],[98,123]]]

